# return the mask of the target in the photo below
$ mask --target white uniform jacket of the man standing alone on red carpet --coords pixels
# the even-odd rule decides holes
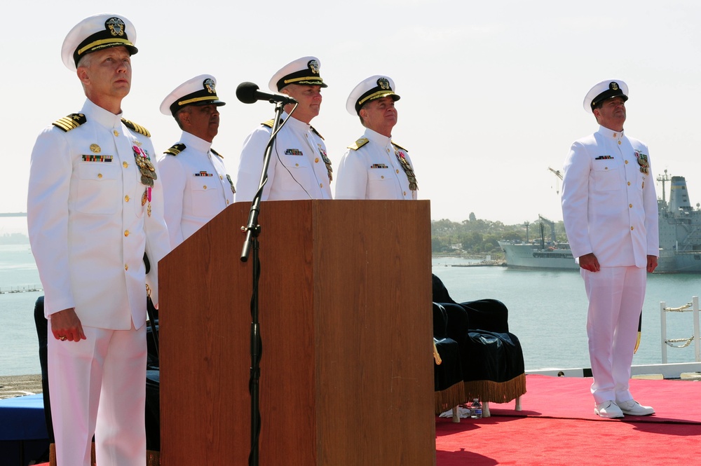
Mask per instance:
[[[572,144],[564,165],[562,214],[573,256],[593,252],[602,267],[645,268],[648,255],[659,255],[650,170],[647,146],[623,132],[600,126]]]

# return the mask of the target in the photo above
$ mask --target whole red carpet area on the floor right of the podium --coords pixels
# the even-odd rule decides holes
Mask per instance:
[[[526,376],[524,411],[490,404],[491,418],[436,420],[436,464],[695,464],[701,440],[701,384],[631,381],[653,416],[604,420],[594,414],[590,378]],[[524,417],[525,416],[525,417]]]

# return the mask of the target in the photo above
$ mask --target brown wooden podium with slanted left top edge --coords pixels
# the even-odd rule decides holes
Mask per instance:
[[[247,465],[250,203],[159,263],[161,464]],[[261,466],[435,465],[430,204],[261,205]]]

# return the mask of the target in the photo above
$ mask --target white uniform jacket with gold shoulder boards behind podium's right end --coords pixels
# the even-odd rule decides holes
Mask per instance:
[[[341,158],[336,199],[416,199],[417,191],[409,189],[409,178],[397,158],[400,152],[411,165],[405,149],[366,128],[362,139]]]

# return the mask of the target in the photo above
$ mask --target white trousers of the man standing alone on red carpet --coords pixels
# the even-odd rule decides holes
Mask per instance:
[[[630,366],[645,298],[646,269],[635,266],[580,269],[589,312],[587,336],[592,364],[592,395],[599,404],[632,399]]]

